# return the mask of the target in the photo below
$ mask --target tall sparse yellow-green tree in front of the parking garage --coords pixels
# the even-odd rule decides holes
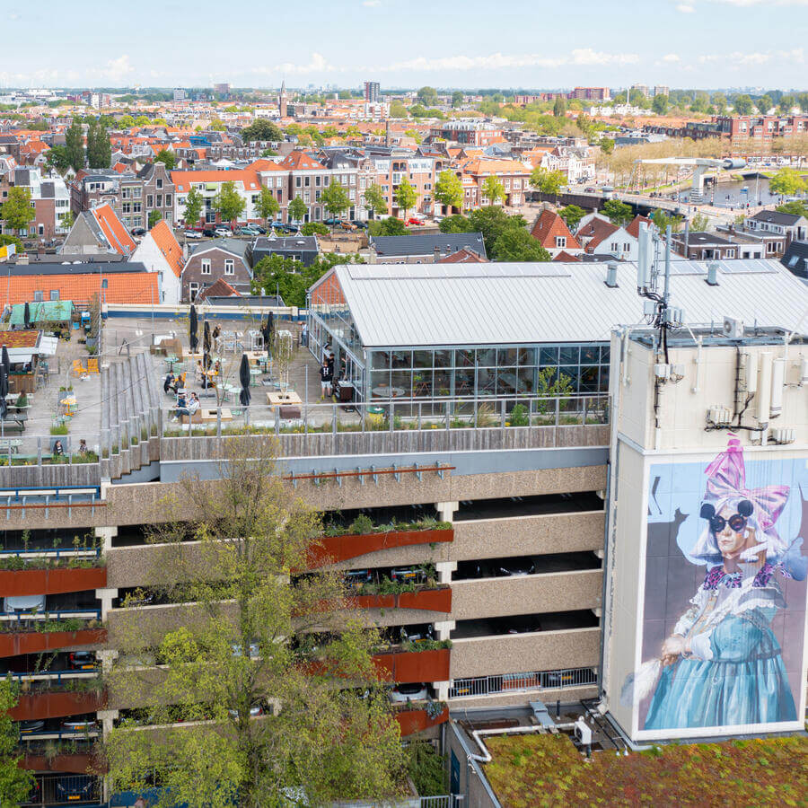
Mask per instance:
[[[107,738],[111,780],[140,791],[156,772],[166,786],[159,805],[264,808],[288,804],[290,791],[305,804],[381,804],[404,758],[373,667],[379,634],[352,617],[340,573],[309,571],[320,516],[275,473],[274,441],[227,444],[220,479],[180,482],[168,505],[175,521],[149,537],[161,557],[154,588],[195,603],[196,619],[169,630],[133,621],[109,674],[112,689],[139,698],[149,724],[195,725],[138,732],[136,719],[124,718]],[[191,521],[180,518],[179,502],[190,505]],[[201,563],[189,563],[188,540]],[[148,669],[148,684],[123,661],[147,648],[161,665]]]

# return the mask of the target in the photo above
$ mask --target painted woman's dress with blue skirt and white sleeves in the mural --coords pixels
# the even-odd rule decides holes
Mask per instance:
[[[643,728],[795,721],[786,667],[770,628],[786,604],[770,570],[753,578],[711,570],[691,603],[674,634],[689,638],[692,654],[663,668]]]

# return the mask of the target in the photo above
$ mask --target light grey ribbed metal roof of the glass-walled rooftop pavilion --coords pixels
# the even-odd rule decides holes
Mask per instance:
[[[672,304],[690,325],[808,329],[808,288],[778,261],[672,261]],[[339,265],[338,278],[365,347],[597,342],[644,321],[637,266],[584,263]],[[329,275],[325,276],[329,277]],[[324,277],[324,278],[325,278]],[[324,279],[323,278],[323,279]]]

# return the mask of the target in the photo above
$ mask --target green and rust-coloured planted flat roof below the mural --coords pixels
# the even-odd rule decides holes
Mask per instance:
[[[505,808],[561,805],[804,805],[808,739],[654,746],[586,761],[566,735],[486,739],[486,776]]]

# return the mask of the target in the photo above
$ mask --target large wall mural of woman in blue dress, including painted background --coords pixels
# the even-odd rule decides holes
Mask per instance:
[[[797,721],[808,463],[758,456],[650,468],[639,730]]]

